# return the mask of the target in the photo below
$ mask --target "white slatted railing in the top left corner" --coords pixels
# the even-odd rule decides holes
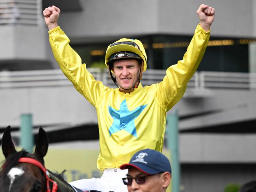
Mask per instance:
[[[0,0],[0,25],[42,25],[41,0]]]

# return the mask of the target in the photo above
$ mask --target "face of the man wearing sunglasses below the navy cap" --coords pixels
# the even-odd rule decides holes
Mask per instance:
[[[129,167],[128,177],[143,177],[146,174],[140,170]],[[151,175],[145,178],[145,183],[138,184],[135,179],[132,180],[132,185],[128,185],[129,192],[165,192],[170,183],[171,174],[169,172]]]

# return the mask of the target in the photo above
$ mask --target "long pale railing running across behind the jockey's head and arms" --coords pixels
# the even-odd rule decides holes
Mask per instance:
[[[108,87],[115,87],[108,70],[88,68],[96,80]],[[159,83],[165,76],[165,70],[148,69],[143,73],[141,83],[152,85]],[[0,89],[24,87],[71,86],[72,83],[61,70],[31,70],[0,72]],[[196,72],[187,84],[191,89],[256,89],[256,73],[232,72]]]

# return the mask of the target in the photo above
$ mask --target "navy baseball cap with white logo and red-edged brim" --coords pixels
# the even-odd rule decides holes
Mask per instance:
[[[164,172],[172,174],[169,159],[159,151],[150,149],[138,151],[134,156],[132,156],[130,162],[121,165],[120,169],[128,169],[129,166],[135,167],[147,175]]]

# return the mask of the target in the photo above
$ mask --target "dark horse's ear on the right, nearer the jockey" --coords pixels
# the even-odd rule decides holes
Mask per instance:
[[[48,137],[45,130],[42,127],[40,127],[39,133],[37,136],[34,155],[43,161],[43,158],[45,157],[47,151],[48,151]]]

